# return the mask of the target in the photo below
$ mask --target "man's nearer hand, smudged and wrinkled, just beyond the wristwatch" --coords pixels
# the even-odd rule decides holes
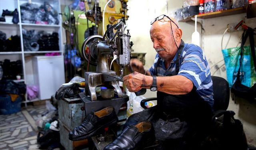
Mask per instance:
[[[150,88],[153,78],[151,76],[145,76],[138,72],[133,72],[124,76],[124,85],[130,92],[137,92],[142,88]]]

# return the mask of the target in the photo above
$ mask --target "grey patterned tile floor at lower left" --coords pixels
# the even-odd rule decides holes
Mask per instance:
[[[38,150],[36,120],[45,105],[28,106],[21,112],[0,115],[0,150]]]

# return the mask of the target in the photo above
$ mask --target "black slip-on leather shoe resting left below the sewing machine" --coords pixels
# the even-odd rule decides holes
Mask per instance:
[[[118,118],[113,107],[106,107],[98,112],[90,112],[82,124],[68,135],[69,140],[79,141],[93,136],[99,129],[116,124]]]

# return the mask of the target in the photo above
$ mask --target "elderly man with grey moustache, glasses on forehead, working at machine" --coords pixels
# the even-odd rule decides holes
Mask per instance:
[[[161,15],[151,25],[150,38],[157,52],[154,64],[146,71],[142,62],[131,60],[134,72],[124,76],[124,84],[130,92],[157,90],[157,106],[133,114],[124,128],[150,120],[160,141],[158,149],[192,149],[210,127],[214,104],[210,68],[199,46],[183,42],[175,20]],[[119,141],[125,143],[124,138]],[[129,149],[117,141],[113,143],[108,147],[114,148],[106,150]]]

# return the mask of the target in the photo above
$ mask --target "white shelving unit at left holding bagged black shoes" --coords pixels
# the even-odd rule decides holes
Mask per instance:
[[[0,22],[0,31],[6,33],[6,38],[11,36],[18,35],[20,36],[21,42],[21,51],[20,52],[2,52],[0,50],[0,61],[4,61],[4,59],[9,59],[10,61],[21,60],[22,61],[22,73],[23,78],[20,80],[14,80],[14,82],[24,82],[27,86],[36,85],[37,81],[35,81],[34,74],[34,65],[33,58],[34,56],[44,56],[46,53],[59,53],[63,56],[63,44],[62,44],[62,20],[61,16],[58,16],[59,24],[31,24],[31,23],[23,23],[21,21],[21,10],[20,5],[24,3],[31,2],[32,4],[37,4],[41,6],[44,2],[48,2],[52,8],[58,11],[58,14],[61,12],[60,10],[60,0],[0,0],[0,15],[2,14],[2,10],[10,10],[13,11],[17,8],[19,14],[19,23],[12,23],[12,18],[10,16],[6,16],[6,22]],[[46,33],[52,34],[52,32],[58,33],[59,38],[59,50],[58,51],[26,51],[24,49],[24,41],[22,35],[22,29],[26,30],[43,30]],[[49,56],[51,57],[51,56]],[[64,65],[64,60],[62,60],[62,64]],[[59,72],[60,74],[64,74],[64,72]],[[47,72],[46,72],[47,74]],[[58,78],[58,75],[56,75]],[[49,83],[50,86],[51,83]],[[38,85],[37,85],[38,86]],[[23,103],[34,102],[40,100],[39,98],[35,98],[34,100],[28,100],[27,96],[26,100]],[[26,105],[26,104],[25,104]]]

